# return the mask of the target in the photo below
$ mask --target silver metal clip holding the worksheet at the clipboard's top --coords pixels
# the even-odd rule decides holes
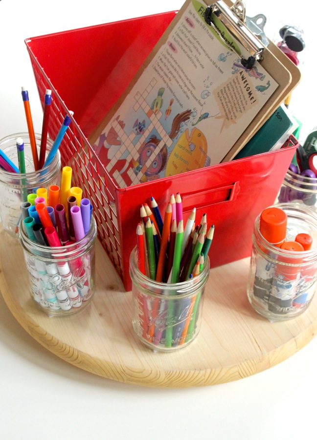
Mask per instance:
[[[263,60],[264,45],[252,34],[246,21],[246,8],[241,0],[237,0],[232,8],[229,8],[222,0],[207,6],[204,12],[204,19],[207,24],[212,26],[213,30],[219,35],[222,41],[227,45],[219,30],[212,21],[213,14],[217,16],[226,26],[227,31],[248,50],[250,56],[248,59],[241,58],[241,64],[247,69],[251,69],[256,61]],[[231,50],[232,47],[230,47]],[[235,51],[235,50],[234,50]],[[237,54],[240,56],[239,54]]]

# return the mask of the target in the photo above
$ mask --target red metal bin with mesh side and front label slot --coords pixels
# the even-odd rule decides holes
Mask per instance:
[[[257,215],[274,203],[296,142],[286,148],[211,166],[178,176],[120,189],[96,157],[88,137],[128,86],[175,16],[154,16],[44,35],[25,41],[40,96],[52,90],[54,138],[65,113],[74,111],[60,147],[63,165],[73,169],[73,184],[91,198],[98,237],[131,289],[129,256],[136,244],[139,207],[153,196],[164,211],[170,195],[181,193],[184,220],[195,206],[215,224],[211,267],[251,253]]]

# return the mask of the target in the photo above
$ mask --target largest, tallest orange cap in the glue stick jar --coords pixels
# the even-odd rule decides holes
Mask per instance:
[[[279,246],[285,241],[287,227],[286,213],[275,206],[266,208],[260,216],[260,232],[269,243]]]

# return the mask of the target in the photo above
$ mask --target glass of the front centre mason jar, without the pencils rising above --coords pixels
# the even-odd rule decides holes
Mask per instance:
[[[154,351],[165,352],[191,344],[201,329],[209,258],[196,277],[167,284],[142,274],[137,267],[137,252],[134,249],[130,256],[130,276],[133,329],[143,344]]]

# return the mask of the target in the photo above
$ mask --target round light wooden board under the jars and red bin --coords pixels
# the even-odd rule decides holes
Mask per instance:
[[[49,318],[30,298],[20,243],[1,229],[0,291],[14,317],[47,350],[109,379],[152,387],[193,387],[241,379],[282,362],[316,334],[317,299],[301,316],[271,323],[249,305],[249,259],[211,269],[202,330],[178,352],[153,352],[132,329],[132,295],[99,242],[96,292],[73,316]]]

